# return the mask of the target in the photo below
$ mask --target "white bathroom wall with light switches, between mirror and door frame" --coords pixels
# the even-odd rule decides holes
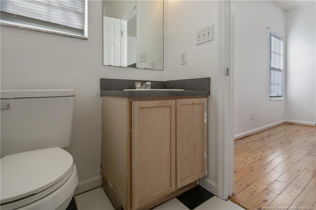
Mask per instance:
[[[217,183],[217,2],[165,1],[166,80],[211,77],[208,97],[208,188]],[[214,40],[196,45],[196,31],[214,24]],[[180,54],[187,64],[180,65]],[[197,84],[198,85],[198,84]]]

